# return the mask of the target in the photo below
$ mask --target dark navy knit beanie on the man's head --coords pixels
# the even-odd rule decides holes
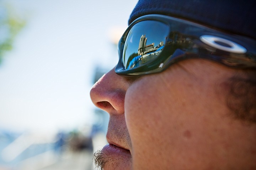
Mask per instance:
[[[256,0],[139,0],[128,24],[148,14],[182,18],[256,39]]]

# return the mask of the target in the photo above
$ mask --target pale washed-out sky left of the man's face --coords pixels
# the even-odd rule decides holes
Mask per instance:
[[[137,0],[5,2],[27,16],[27,25],[0,65],[0,128],[49,131],[92,122],[94,71],[116,64],[111,32],[126,29]]]

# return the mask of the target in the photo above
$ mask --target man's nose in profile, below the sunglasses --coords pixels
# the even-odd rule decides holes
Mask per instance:
[[[90,96],[96,107],[110,113],[124,113],[124,98],[129,81],[114,69],[103,75],[92,87]]]

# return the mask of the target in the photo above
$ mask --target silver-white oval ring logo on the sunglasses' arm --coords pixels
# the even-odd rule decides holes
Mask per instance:
[[[243,47],[233,41],[230,41],[230,40],[227,40],[224,38],[220,38],[218,36],[202,35],[202,36],[200,36],[200,40],[209,46],[212,46],[216,49],[227,51],[227,52],[244,54],[247,51],[245,49],[245,47]]]

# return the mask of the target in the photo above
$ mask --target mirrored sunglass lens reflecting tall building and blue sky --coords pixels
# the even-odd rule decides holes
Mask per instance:
[[[141,21],[130,29],[123,51],[123,64],[129,70],[155,60],[163,50],[169,27],[158,21]]]

